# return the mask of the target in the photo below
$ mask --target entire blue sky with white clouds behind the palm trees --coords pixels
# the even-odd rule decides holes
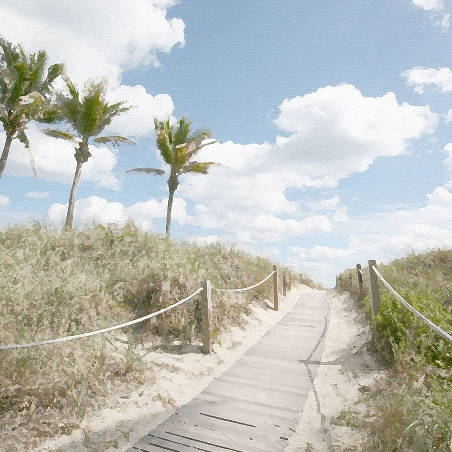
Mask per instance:
[[[10,2],[8,2],[10,3]],[[172,236],[221,241],[308,273],[452,243],[452,2],[99,0],[0,5],[4,38],[46,50],[77,83],[106,76],[133,147],[93,149],[75,223],[164,232],[153,118],[186,114],[217,144],[181,179]],[[83,20],[80,20],[80,18]],[[108,131],[107,131],[108,132]],[[0,179],[0,224],[61,226],[73,148],[29,126]],[[0,136],[0,145],[3,144]]]

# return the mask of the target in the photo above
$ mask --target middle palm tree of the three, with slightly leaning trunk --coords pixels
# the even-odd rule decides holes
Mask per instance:
[[[55,138],[63,138],[74,143],[75,168],[74,181],[72,183],[69,203],[67,208],[66,223],[64,229],[71,229],[74,218],[75,193],[80,179],[83,163],[87,162],[91,153],[89,144],[93,137],[99,135],[103,129],[111,123],[112,118],[127,111],[130,107],[123,107],[124,102],[108,104],[105,100],[106,83],[86,82],[85,93],[82,95],[69,77],[63,76],[68,93],[60,95],[56,100],[56,121],[68,123],[73,133],[56,129],[46,129],[43,132]],[[117,146],[120,143],[135,144],[127,138],[118,135],[97,137],[93,143],[112,143]]]

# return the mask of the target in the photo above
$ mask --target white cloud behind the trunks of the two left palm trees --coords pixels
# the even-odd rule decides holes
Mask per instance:
[[[38,178],[71,184],[76,166],[75,149],[71,143],[44,135],[34,124],[30,124],[27,136],[30,140],[29,150],[19,140],[13,140],[5,165],[5,174],[32,176],[31,154]],[[96,186],[118,190],[121,183],[112,172],[117,162],[115,154],[106,147],[90,146],[89,150],[92,157],[83,164],[80,179],[92,181]]]

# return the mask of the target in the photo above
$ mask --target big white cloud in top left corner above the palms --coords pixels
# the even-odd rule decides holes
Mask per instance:
[[[185,24],[167,18],[174,0],[80,0],[4,2],[2,35],[29,51],[45,49],[51,63],[64,62],[76,82],[106,75],[113,85],[124,70],[158,66],[158,52],[184,45]]]

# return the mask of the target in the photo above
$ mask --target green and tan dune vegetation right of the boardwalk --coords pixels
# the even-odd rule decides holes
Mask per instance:
[[[378,270],[413,307],[452,333],[452,251],[410,254]],[[343,281],[349,273],[342,274]],[[386,378],[363,390],[367,414],[344,412],[349,425],[367,437],[366,450],[444,451],[452,444],[452,344],[417,319],[380,283],[381,308],[371,314],[368,269],[363,269],[366,296],[358,303],[372,331],[372,350],[387,369]],[[347,287],[357,299],[353,277]],[[364,437],[363,436],[363,437]],[[362,449],[360,449],[362,450]]]

